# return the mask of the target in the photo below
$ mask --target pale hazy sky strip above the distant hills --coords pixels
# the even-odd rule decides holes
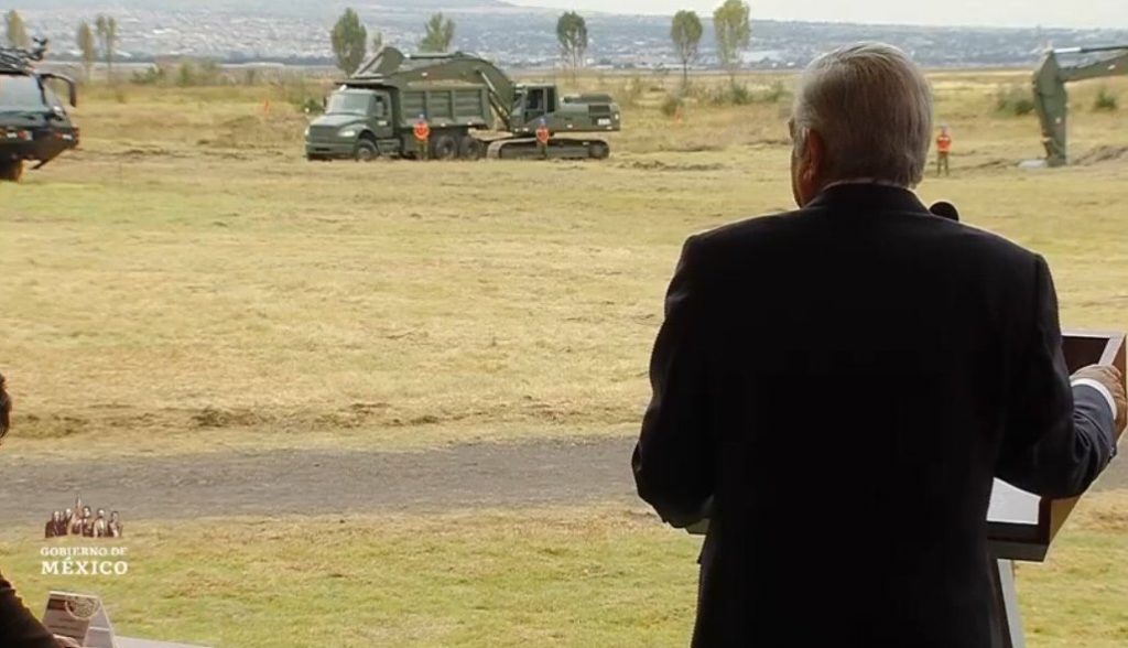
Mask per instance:
[[[616,14],[712,14],[721,0],[509,0]],[[749,0],[752,17],[910,25],[1128,28],[1128,0]]]

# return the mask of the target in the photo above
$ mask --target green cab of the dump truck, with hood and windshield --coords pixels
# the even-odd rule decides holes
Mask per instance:
[[[387,90],[342,88],[329,95],[325,114],[306,131],[308,159],[369,160],[394,152],[395,115]]]

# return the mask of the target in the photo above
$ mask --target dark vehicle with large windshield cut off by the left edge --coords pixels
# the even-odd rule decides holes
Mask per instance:
[[[0,181],[19,181],[25,161],[39,168],[78,146],[79,130],[51,87],[65,86],[77,106],[74,81],[35,70],[46,51],[44,40],[34,50],[0,47]]]

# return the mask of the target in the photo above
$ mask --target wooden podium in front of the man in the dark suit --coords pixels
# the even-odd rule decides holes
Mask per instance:
[[[1121,374],[1126,373],[1128,344],[1123,333],[1066,331],[1063,332],[1063,351],[1070,374],[1090,365],[1112,365]],[[1119,441],[1123,430],[1118,430],[1117,435]],[[1079,499],[1040,498],[995,480],[987,513],[987,540],[995,562],[992,579],[999,611],[994,620],[992,648],[1025,648],[1014,587],[1014,562],[1045,562],[1050,545]],[[708,520],[686,531],[704,535]]]

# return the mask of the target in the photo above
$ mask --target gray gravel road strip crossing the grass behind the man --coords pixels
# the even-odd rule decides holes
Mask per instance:
[[[18,463],[0,456],[0,519],[45,522],[81,491],[132,519],[442,511],[632,501],[632,438],[456,446],[424,453],[271,452]],[[1098,482],[1128,488],[1128,457]]]

